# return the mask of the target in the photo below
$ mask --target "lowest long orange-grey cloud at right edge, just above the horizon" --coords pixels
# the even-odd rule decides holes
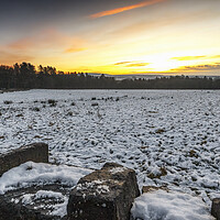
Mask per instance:
[[[207,65],[197,65],[197,66],[182,66],[172,70],[183,70],[183,72],[207,72],[207,70],[217,70],[220,69],[220,64],[207,64]]]

